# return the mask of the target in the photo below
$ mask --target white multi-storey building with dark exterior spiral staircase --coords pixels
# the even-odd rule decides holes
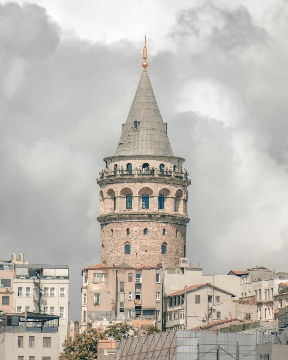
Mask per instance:
[[[13,312],[58,315],[59,352],[68,338],[69,267],[67,265],[16,264]]]

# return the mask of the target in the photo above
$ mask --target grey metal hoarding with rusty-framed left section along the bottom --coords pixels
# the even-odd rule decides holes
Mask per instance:
[[[117,360],[255,360],[255,335],[174,330],[117,341]]]

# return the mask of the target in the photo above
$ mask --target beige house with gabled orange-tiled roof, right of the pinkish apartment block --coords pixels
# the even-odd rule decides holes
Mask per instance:
[[[186,298],[186,299],[185,299]],[[165,329],[192,329],[220,320],[252,321],[255,306],[210,283],[197,284],[166,295]],[[187,304],[187,306],[186,306]]]

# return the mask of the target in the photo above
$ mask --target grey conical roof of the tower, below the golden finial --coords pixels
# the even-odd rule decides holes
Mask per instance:
[[[146,69],[122,128],[115,152],[118,155],[174,156]]]

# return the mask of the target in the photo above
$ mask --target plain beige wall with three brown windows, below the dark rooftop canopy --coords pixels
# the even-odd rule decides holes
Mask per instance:
[[[6,331],[5,331],[6,330]],[[23,336],[23,347],[18,347],[18,336]],[[35,337],[35,347],[29,348],[29,336]],[[51,347],[43,348],[43,337],[51,337]],[[0,358],[1,360],[14,360],[18,356],[35,356],[42,359],[50,356],[51,360],[59,359],[59,333],[58,332],[26,332],[25,326],[0,327]]]

